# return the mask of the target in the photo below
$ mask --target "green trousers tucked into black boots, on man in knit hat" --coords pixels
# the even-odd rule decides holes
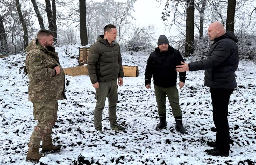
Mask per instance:
[[[166,105],[165,98],[166,95],[168,97],[170,106],[172,108],[172,114],[174,117],[181,116],[181,108],[179,103],[179,93],[176,86],[172,86],[169,88],[163,88],[157,85],[154,85],[155,94],[156,94],[156,102],[158,108],[158,114],[166,113]]]

